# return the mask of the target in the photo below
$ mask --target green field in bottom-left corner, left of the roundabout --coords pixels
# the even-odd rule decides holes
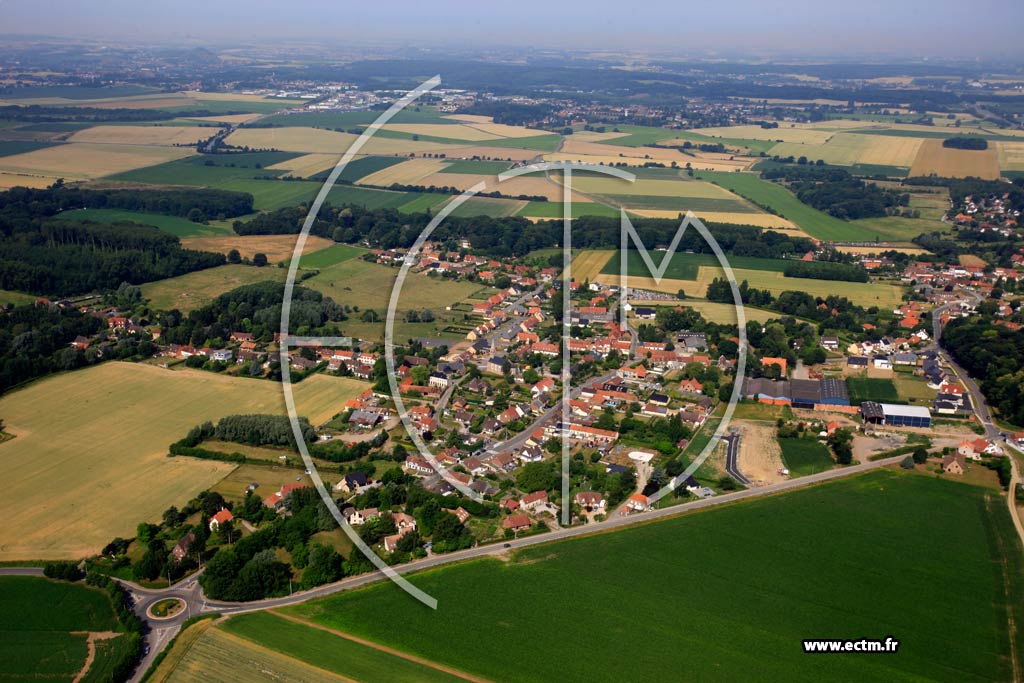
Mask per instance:
[[[0,680],[70,682],[86,658],[86,636],[79,632],[117,628],[111,601],[98,590],[0,577]],[[109,642],[114,648],[123,640]]]

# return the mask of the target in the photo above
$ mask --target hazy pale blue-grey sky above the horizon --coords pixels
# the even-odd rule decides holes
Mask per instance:
[[[0,0],[0,33],[101,40],[1024,57],[1019,0]]]

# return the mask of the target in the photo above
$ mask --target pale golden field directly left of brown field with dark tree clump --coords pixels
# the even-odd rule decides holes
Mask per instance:
[[[839,133],[821,143],[780,142],[772,147],[779,157],[807,157],[835,166],[860,164],[910,168],[924,140],[920,137],[891,137]]]

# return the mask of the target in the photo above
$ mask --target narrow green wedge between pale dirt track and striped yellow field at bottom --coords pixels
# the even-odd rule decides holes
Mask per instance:
[[[282,654],[314,663],[322,669],[358,681],[465,681],[425,665],[336,636],[315,626],[297,624],[268,612],[233,616],[220,628]],[[387,672],[386,676],[383,672]]]

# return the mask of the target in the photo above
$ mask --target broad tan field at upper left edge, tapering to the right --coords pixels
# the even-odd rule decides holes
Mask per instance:
[[[0,159],[0,171],[81,180],[162,164],[195,153],[189,147],[145,144],[55,144],[4,157]]]

